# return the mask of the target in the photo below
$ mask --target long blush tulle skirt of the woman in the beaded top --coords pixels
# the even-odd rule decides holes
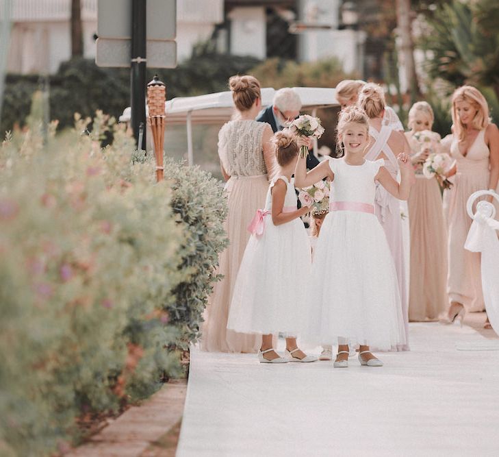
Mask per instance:
[[[205,310],[205,323],[202,329],[201,349],[220,352],[255,352],[260,339],[227,330],[227,318],[232,299],[235,278],[248,243],[248,224],[258,208],[265,204],[268,179],[265,176],[231,177],[225,185],[229,203],[229,214],[224,223],[229,247],[220,254],[216,273],[223,275],[214,284],[212,295]]]

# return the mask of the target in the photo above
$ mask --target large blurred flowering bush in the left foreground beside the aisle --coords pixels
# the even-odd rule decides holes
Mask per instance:
[[[90,122],[77,117],[75,129],[57,138],[52,124],[44,144],[32,116],[29,129],[8,135],[0,148],[5,454],[65,449],[79,421],[117,412],[155,391],[162,374],[179,373],[176,348],[194,335],[186,328],[199,326],[202,291],[216,279],[209,262],[225,245],[218,220],[225,203],[219,199],[212,211],[194,196],[218,196],[218,184],[175,164],[169,175],[199,187],[155,184],[151,160],[134,152],[114,119],[98,112],[91,134],[81,135]],[[101,149],[109,130],[114,143]],[[191,260],[184,268],[194,252],[202,266]],[[175,297],[191,282],[201,303],[193,312],[183,295]]]

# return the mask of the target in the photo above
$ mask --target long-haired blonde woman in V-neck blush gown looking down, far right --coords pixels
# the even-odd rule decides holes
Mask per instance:
[[[448,208],[448,283],[450,301],[445,323],[459,319],[465,310],[483,311],[480,254],[464,249],[472,220],[466,212],[468,197],[476,190],[496,190],[499,180],[499,129],[489,119],[489,106],[473,86],[457,88],[452,95],[452,144],[455,176]]]

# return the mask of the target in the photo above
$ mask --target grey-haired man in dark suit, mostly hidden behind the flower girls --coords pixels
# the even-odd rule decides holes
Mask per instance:
[[[277,90],[272,100],[272,105],[258,113],[257,121],[266,122],[272,127],[275,133],[279,130],[289,127],[293,119],[300,115],[301,100],[300,96],[290,87],[283,87]],[[309,138],[309,149],[312,147],[312,139]],[[313,153],[307,157],[307,169],[313,169],[320,162]]]

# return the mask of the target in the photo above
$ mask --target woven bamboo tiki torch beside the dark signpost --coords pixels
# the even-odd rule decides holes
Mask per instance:
[[[151,126],[154,142],[154,156],[156,158],[156,181],[163,180],[163,147],[164,147],[164,127],[166,100],[166,86],[159,81],[157,75],[147,84],[147,105],[149,106],[149,116],[147,122]]]

